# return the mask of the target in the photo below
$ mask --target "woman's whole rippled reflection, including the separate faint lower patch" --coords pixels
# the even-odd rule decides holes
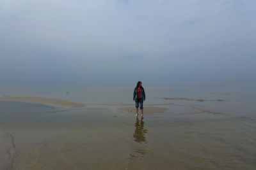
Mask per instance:
[[[147,143],[145,133],[147,133],[147,129],[144,129],[143,117],[141,117],[141,120],[138,117],[136,117],[135,130],[133,134],[134,141],[138,143],[141,143],[141,142]],[[145,154],[146,154],[145,150],[141,148],[136,148],[136,150],[134,150],[134,153],[130,154],[129,159],[141,160],[141,158],[145,157]]]

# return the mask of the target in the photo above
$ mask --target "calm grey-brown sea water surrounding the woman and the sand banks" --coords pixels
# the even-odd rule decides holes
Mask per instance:
[[[56,97],[88,104],[69,109],[0,101],[0,131],[12,134],[15,143],[12,169],[256,168],[252,85],[143,85],[145,107],[163,105],[169,109],[166,113],[136,118],[118,113],[115,106],[93,105],[133,104],[133,83],[2,84],[2,96]]]

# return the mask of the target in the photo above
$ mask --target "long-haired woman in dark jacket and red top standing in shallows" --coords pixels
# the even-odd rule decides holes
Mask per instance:
[[[141,117],[143,116],[143,101],[145,101],[145,99],[146,99],[146,95],[145,95],[145,90],[142,87],[142,82],[138,81],[133,92],[133,101],[135,101],[135,107],[136,107],[136,117],[138,117],[139,106],[141,110]]]

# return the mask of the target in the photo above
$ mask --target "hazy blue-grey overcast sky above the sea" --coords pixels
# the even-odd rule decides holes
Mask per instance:
[[[2,79],[256,73],[255,0],[0,0],[0,37]]]

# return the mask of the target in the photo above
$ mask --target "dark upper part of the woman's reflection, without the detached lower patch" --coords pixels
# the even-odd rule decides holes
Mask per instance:
[[[133,134],[134,141],[138,143],[147,143],[145,133],[147,133],[147,129],[144,129],[143,117],[141,117],[141,120],[139,120],[139,118],[136,117],[135,130]]]

